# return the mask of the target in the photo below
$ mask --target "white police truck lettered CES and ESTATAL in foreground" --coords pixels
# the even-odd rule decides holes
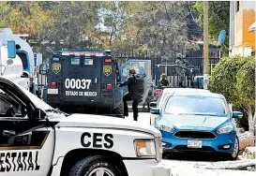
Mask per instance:
[[[0,104],[0,175],[171,175],[152,126],[68,115],[2,77]]]

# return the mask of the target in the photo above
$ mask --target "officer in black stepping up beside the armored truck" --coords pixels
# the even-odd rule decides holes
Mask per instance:
[[[128,116],[128,103],[127,101],[132,100],[132,110],[133,110],[133,119],[134,121],[138,120],[138,105],[140,103],[140,100],[142,99],[142,95],[138,94],[138,90],[136,90],[136,78],[135,74],[136,71],[134,68],[129,69],[129,77],[128,81],[125,81],[123,83],[120,83],[120,87],[127,85],[128,86],[128,93],[124,95],[123,102],[124,102],[124,116]]]

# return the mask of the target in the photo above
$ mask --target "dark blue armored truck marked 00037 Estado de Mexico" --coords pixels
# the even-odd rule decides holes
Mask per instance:
[[[47,80],[44,100],[54,108],[123,114],[123,92],[117,86],[118,66],[111,51],[59,51],[50,60]]]

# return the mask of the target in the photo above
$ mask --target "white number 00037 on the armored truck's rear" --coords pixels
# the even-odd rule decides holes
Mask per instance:
[[[65,87],[66,89],[90,89],[91,80],[75,80],[75,79],[66,79]]]

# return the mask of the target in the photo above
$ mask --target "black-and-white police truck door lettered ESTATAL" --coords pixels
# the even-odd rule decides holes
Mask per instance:
[[[12,84],[0,81],[0,87],[0,104],[5,104],[6,107],[12,106],[16,116],[10,117],[6,114],[5,107],[1,107],[0,175],[47,175],[53,163],[55,142],[53,127],[43,119],[27,118],[22,113],[23,110],[16,111],[23,109],[23,103],[16,99],[9,101],[9,98],[11,95],[23,98],[23,95]]]

